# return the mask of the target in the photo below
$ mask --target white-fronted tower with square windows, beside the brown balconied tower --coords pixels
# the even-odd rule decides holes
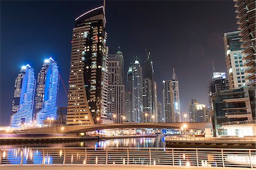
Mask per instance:
[[[224,33],[224,46],[226,54],[226,67],[228,69],[229,88],[245,87],[249,80],[245,79],[247,67],[243,66],[245,57],[243,49],[241,48],[242,42],[240,31]]]

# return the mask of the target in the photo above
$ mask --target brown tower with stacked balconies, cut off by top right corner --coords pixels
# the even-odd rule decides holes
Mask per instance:
[[[241,36],[241,48],[243,48],[242,54],[245,55],[243,60],[247,69],[245,73],[248,75],[245,77],[249,82],[246,86],[255,86],[255,0],[233,0],[236,2],[234,5],[237,13],[237,24],[239,25],[238,30],[240,30]]]

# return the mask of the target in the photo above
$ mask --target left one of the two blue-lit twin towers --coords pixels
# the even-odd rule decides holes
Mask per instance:
[[[15,79],[10,126],[31,124],[34,107],[35,75],[30,65],[22,66]]]

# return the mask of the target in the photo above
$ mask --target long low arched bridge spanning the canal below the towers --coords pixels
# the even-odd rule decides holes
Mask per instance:
[[[184,124],[187,129],[205,130],[212,128],[211,123],[124,123],[124,124],[100,124],[100,125],[72,125],[51,126],[34,129],[24,129],[25,134],[61,134],[81,133],[86,131],[103,129],[128,129],[128,128],[154,128],[154,129],[180,129]]]

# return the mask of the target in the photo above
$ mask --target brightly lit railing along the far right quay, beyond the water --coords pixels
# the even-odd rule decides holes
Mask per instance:
[[[193,142],[216,142],[216,143],[234,143],[234,142],[256,142],[256,137],[191,137],[191,136],[167,136],[165,141],[193,141]]]

